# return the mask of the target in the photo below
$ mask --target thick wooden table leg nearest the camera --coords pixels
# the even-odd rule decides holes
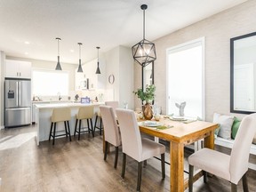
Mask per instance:
[[[170,142],[170,191],[184,191],[184,144]]]

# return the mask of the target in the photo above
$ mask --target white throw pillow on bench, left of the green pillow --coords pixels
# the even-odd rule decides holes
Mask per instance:
[[[214,113],[213,115],[213,123],[220,124],[220,131],[218,132],[218,136],[224,139],[231,139],[231,127],[234,122],[234,116],[226,116],[220,115],[218,113]]]

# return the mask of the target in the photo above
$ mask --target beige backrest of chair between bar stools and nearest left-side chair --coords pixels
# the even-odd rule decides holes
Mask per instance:
[[[104,125],[105,140],[114,146],[121,145],[121,135],[116,123],[116,116],[110,106],[100,106],[100,115]]]

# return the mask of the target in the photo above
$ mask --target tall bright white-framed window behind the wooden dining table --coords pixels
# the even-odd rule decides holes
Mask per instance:
[[[186,101],[184,115],[204,119],[204,38],[167,50],[167,94],[168,114]]]

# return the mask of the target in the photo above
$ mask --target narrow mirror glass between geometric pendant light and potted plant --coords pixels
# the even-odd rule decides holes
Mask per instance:
[[[144,68],[142,67],[142,87],[143,91],[146,89],[147,84],[154,84],[154,61],[149,63]]]

